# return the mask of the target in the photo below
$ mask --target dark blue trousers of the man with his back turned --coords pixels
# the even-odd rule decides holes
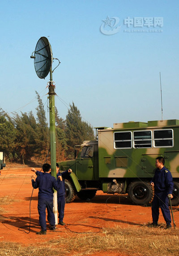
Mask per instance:
[[[47,230],[46,208],[47,220],[51,226],[55,226],[55,215],[53,213],[53,199],[38,199],[39,224],[41,226],[42,231]]]

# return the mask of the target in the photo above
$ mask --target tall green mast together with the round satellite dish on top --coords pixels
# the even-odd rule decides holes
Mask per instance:
[[[34,55],[33,55],[34,54]],[[55,83],[52,79],[52,61],[57,58],[52,57],[51,45],[46,37],[41,37],[35,47],[35,51],[30,56],[34,59],[34,67],[39,78],[45,79],[50,72],[50,82],[48,82],[48,99],[50,113],[50,152],[51,152],[51,175],[56,178],[56,134],[55,134]],[[58,60],[59,61],[59,60]],[[59,61],[60,64],[60,61]],[[59,66],[58,64],[58,66]],[[57,68],[57,66],[55,67]],[[57,191],[54,190],[54,214],[55,225],[58,224],[57,211]]]

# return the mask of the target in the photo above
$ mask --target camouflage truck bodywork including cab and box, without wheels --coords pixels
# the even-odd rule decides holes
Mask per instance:
[[[84,188],[85,184],[85,188],[97,188],[111,193],[109,186],[113,181],[117,181],[123,184],[121,193],[126,193],[132,181],[139,179],[148,182],[152,179],[155,159],[158,156],[165,158],[166,168],[170,170],[175,181],[179,182],[179,120],[149,121],[148,123],[128,122],[114,124],[113,128],[100,127],[96,129],[98,130],[96,141],[84,141],[81,146],[78,146],[76,159],[59,163],[60,170],[71,168],[75,173],[75,187],[78,191],[79,185]],[[115,149],[115,132],[131,132],[133,141],[134,131],[151,131],[153,135],[153,131],[162,129],[172,130],[173,146],[154,147],[152,137],[152,146],[148,148],[134,148],[132,142],[132,148]],[[93,148],[93,154],[84,154],[83,151],[89,151],[91,154],[90,148]]]

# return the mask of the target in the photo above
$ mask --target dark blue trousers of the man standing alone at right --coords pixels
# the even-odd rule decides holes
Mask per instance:
[[[171,223],[171,216],[170,216],[170,210],[169,210],[169,199],[167,197],[166,192],[160,192],[154,195],[153,202],[152,202],[152,219],[153,223],[158,223],[158,217],[159,217],[159,207],[162,210],[162,214],[164,217],[164,220],[166,221],[166,224]]]

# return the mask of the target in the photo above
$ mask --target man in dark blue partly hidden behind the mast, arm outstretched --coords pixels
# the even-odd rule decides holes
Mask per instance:
[[[64,206],[65,206],[65,185],[64,185],[64,179],[68,178],[70,173],[72,172],[72,169],[68,169],[67,171],[60,172],[59,171],[59,164],[56,163],[56,177],[57,179],[61,180],[62,185],[60,186],[60,189],[57,191],[57,203],[58,203],[58,212],[59,212],[59,224],[65,225],[63,222],[64,220]]]

